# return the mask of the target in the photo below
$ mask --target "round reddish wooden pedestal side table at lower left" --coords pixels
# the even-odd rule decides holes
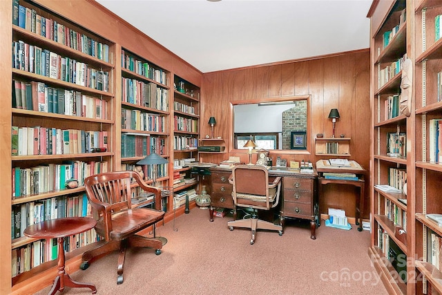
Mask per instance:
[[[49,294],[55,294],[57,291],[63,292],[64,287],[88,287],[92,290],[92,294],[97,293],[97,288],[93,284],[79,283],[70,278],[69,274],[64,270],[65,255],[64,255],[64,238],[79,234],[83,231],[88,231],[95,227],[97,222],[92,218],[85,217],[68,217],[58,218],[52,220],[46,220],[44,222],[37,223],[36,225],[30,225],[24,231],[25,236],[30,238],[46,239],[57,238],[58,242],[58,275],[54,280],[52,288]]]

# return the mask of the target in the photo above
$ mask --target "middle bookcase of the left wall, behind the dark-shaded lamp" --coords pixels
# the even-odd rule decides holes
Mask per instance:
[[[136,162],[153,151],[169,155],[170,75],[169,70],[122,48],[121,169],[133,170]],[[157,166],[157,182],[167,186],[168,164]],[[144,165],[150,183],[153,171]],[[166,209],[166,207],[164,207]]]

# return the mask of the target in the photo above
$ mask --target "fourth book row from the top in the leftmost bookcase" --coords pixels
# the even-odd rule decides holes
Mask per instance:
[[[93,153],[107,147],[107,131],[12,126],[12,155]]]

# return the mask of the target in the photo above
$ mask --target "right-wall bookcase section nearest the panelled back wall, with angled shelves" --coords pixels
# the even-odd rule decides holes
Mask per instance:
[[[386,3],[386,2],[385,2]],[[385,4],[383,3],[383,4]],[[370,175],[372,247],[369,254],[396,294],[407,293],[407,255],[405,239],[408,216],[405,144],[407,120],[399,111],[401,70],[407,58],[407,9],[405,1],[389,1],[376,8],[385,13],[383,23],[372,19],[372,155]],[[372,18],[374,18],[372,16]],[[400,140],[403,140],[401,142]],[[399,151],[403,151],[400,153]],[[392,189],[385,189],[389,185]],[[401,267],[405,262],[405,268]],[[411,288],[410,288],[411,289]]]

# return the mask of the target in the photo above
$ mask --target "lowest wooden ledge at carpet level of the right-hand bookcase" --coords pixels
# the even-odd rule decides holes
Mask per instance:
[[[387,289],[388,294],[407,294],[407,285],[402,281],[397,281],[398,278],[396,269],[389,265],[385,265],[385,261],[388,261],[382,255],[381,249],[376,246],[368,248],[368,256],[374,265],[374,268],[377,270],[378,275],[381,276],[381,280]],[[393,276],[392,274],[396,274]]]

